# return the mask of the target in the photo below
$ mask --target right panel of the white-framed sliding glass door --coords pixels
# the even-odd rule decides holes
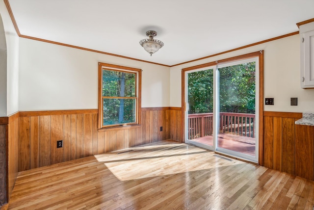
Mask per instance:
[[[217,66],[219,130],[216,150],[257,162],[258,59]],[[219,115],[219,116],[218,116]]]

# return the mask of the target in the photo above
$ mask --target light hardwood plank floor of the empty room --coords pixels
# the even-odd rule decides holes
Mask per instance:
[[[314,182],[173,141],[19,173],[8,209],[313,209]]]

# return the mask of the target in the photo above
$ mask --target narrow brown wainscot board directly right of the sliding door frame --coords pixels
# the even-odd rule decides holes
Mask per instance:
[[[273,117],[264,117],[263,166],[273,168]]]

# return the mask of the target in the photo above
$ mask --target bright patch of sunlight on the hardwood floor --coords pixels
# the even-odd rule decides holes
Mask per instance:
[[[192,145],[165,144],[134,147],[95,157],[121,181],[243,164],[214,155],[212,151]]]

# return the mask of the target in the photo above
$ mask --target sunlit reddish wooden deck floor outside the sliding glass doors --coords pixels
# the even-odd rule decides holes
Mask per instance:
[[[212,146],[213,137],[211,135],[207,135],[191,139],[191,141]],[[233,135],[230,133],[220,133],[218,134],[218,146],[255,157],[255,138]]]

